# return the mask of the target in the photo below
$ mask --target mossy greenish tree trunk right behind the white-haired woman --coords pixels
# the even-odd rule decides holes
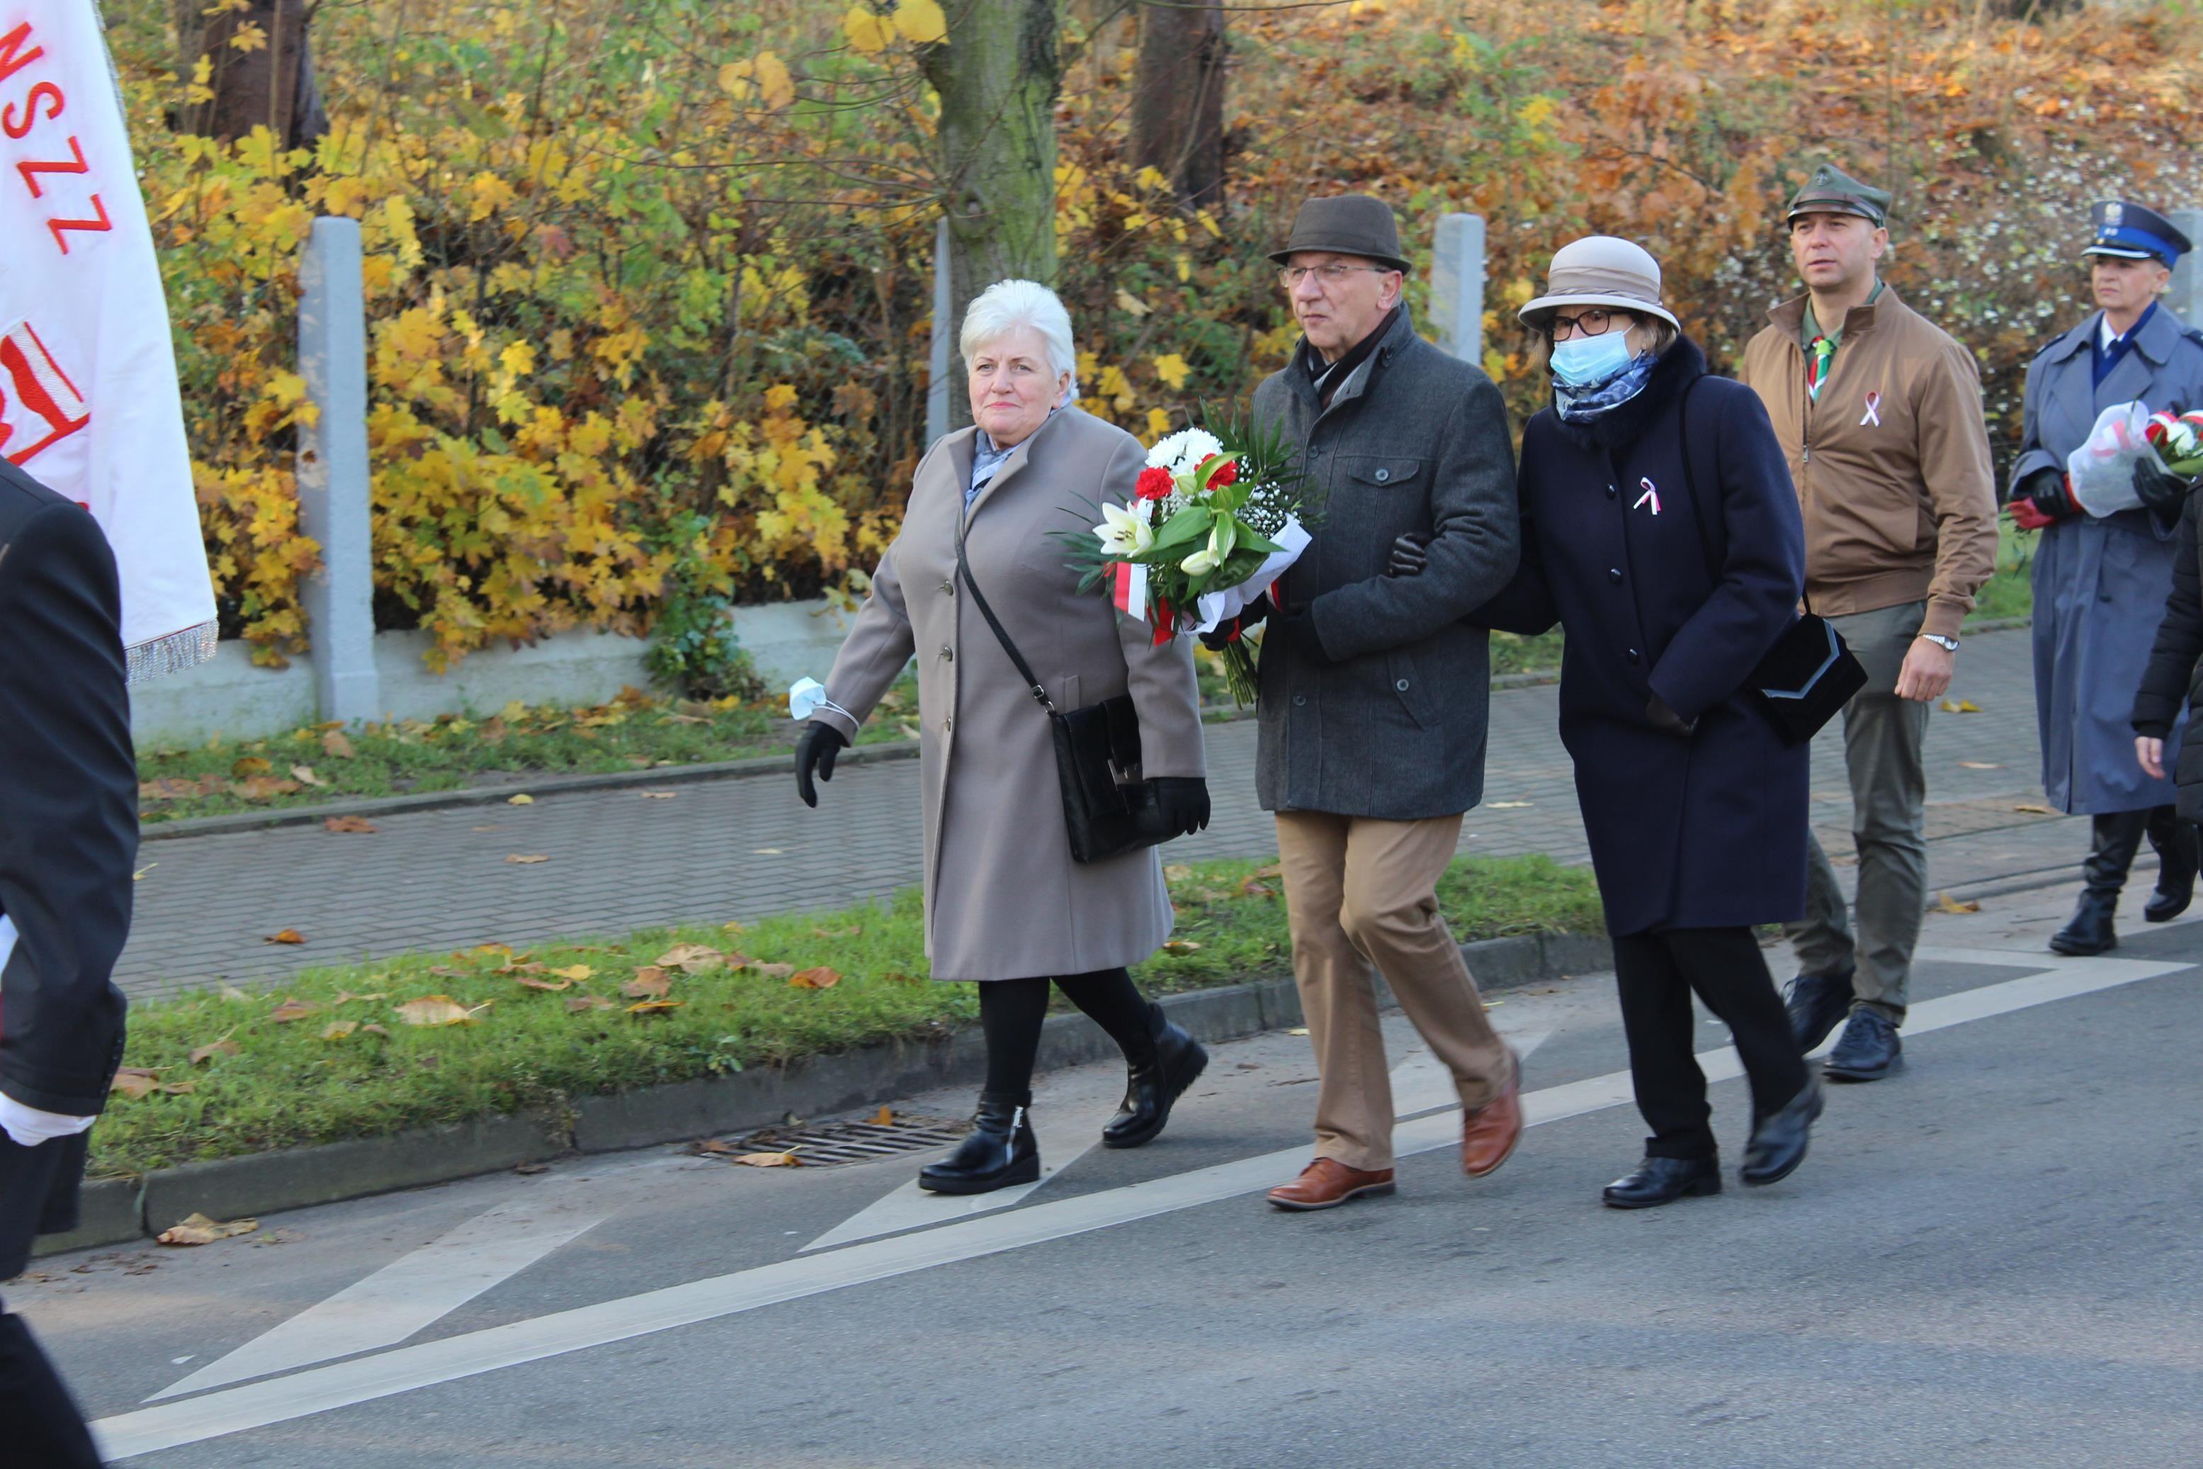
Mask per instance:
[[[967,0],[930,46],[949,220],[949,330],[998,280],[1055,282],[1055,0]],[[949,388],[949,427],[972,405]]]

